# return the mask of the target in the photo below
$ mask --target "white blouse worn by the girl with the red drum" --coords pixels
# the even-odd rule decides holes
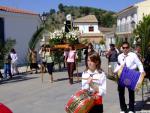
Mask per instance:
[[[89,84],[87,83],[87,79],[90,77],[90,75],[93,75],[93,82],[98,85],[99,93],[98,95],[103,96],[106,94],[106,75],[104,72],[99,72],[98,70],[95,70],[94,72],[91,72],[90,70],[87,70],[82,73],[82,89],[89,89],[90,91],[94,91]]]

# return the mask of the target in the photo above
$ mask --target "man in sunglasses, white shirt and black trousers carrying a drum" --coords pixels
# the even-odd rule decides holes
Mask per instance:
[[[118,56],[118,65],[114,72],[117,72],[120,66],[126,65],[129,69],[139,69],[139,72],[145,73],[143,69],[143,65],[138,58],[138,56],[134,52],[130,52],[130,46],[128,42],[123,42],[122,44],[123,53]],[[119,92],[119,100],[120,100],[120,113],[127,112],[127,105],[125,102],[125,87],[120,86],[118,84],[118,92]],[[129,92],[129,113],[134,113],[134,102],[135,102],[135,95],[134,91],[128,89]]]

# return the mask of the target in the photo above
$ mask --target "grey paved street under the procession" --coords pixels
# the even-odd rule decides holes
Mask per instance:
[[[80,65],[79,72],[81,73],[84,68]],[[102,58],[102,68],[107,71],[105,58]],[[54,79],[54,83],[49,83],[46,73],[42,83],[40,74],[22,74],[12,80],[0,82],[0,102],[7,105],[14,113],[65,113],[65,104],[81,85],[77,80],[75,84],[69,85],[66,71],[54,72]],[[146,86],[144,92],[147,92]],[[147,96],[150,97],[149,93],[145,93],[144,100],[148,102],[143,104],[141,91],[136,93],[138,111],[150,110],[148,105],[150,98]],[[126,100],[128,102],[128,98]],[[107,94],[103,103],[105,113],[119,113],[117,84],[111,80],[107,80]]]

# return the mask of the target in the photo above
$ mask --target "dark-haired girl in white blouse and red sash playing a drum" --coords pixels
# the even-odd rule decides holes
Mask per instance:
[[[106,93],[106,75],[101,69],[99,54],[89,53],[87,65],[82,74],[82,89],[89,90],[95,99],[95,105],[89,113],[103,113],[102,96]]]

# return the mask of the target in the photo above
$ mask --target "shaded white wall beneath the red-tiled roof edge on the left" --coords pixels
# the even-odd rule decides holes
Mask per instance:
[[[15,49],[18,53],[18,63],[24,63],[28,50],[28,42],[41,23],[38,15],[5,13],[5,39],[16,39]]]

